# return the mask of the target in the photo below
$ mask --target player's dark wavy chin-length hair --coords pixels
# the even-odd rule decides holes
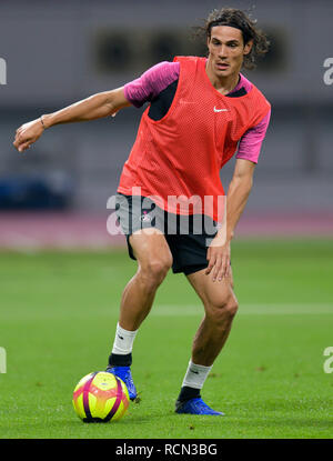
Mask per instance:
[[[194,27],[194,33],[195,36],[203,36],[205,40],[210,39],[212,28],[215,26],[230,26],[240,29],[244,46],[250,40],[253,40],[250,53],[244,56],[243,67],[245,69],[254,69],[256,67],[256,58],[263,57],[269,51],[270,42],[266,34],[256,28],[256,20],[252,20],[242,10],[234,8],[213,10],[203,26]]]

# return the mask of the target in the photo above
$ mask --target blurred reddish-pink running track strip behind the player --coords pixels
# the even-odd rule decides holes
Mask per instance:
[[[121,247],[111,235],[109,214],[0,213],[1,249],[103,249]],[[113,228],[114,229],[114,228]],[[333,238],[333,214],[264,214],[242,217],[239,238]]]

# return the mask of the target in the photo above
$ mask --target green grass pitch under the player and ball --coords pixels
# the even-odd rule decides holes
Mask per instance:
[[[202,307],[170,273],[134,343],[141,401],[118,422],[84,424],[72,391],[105,368],[135,263],[124,250],[2,252],[0,438],[332,438],[333,241],[236,240],[232,264],[240,310],[202,392],[226,415],[173,412]]]

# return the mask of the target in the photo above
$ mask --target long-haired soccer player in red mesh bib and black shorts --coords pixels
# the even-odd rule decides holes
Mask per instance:
[[[236,9],[214,10],[202,30],[208,58],[175,57],[172,62],[158,63],[122,88],[97,93],[23,124],[13,144],[24,151],[58,123],[114,116],[131,104],[149,102],[115,200],[138,271],[122,293],[108,371],[123,379],[134,400],[137,389],[130,368],[133,342],[172,268],[186,275],[204,308],[175,411],[223,415],[202,400],[201,389],[238,310],[231,240],[252,188],[271,113],[270,103],[241,69],[253,68],[269,43],[255,22]],[[216,207],[219,198],[225,197],[220,170],[235,153],[223,226]],[[183,201],[174,204],[171,197]],[[213,198],[213,203],[198,213],[196,206],[205,203],[206,198]],[[203,222],[198,233],[198,223]],[[174,226],[172,232],[165,223]]]

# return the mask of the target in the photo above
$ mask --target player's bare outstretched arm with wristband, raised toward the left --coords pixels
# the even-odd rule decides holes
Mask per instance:
[[[13,146],[22,152],[36,142],[44,129],[60,123],[72,123],[101,119],[115,114],[131,103],[124,96],[123,87],[111,91],[93,94],[53,113],[22,124],[16,133]]]

